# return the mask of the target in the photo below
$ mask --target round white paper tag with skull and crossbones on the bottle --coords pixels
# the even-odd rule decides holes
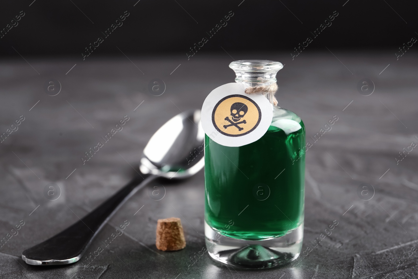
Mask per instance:
[[[201,122],[206,135],[224,146],[243,146],[261,138],[273,118],[273,107],[266,97],[247,94],[248,85],[227,83],[206,97]]]

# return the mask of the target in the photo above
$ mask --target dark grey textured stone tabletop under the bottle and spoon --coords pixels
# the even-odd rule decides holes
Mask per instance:
[[[236,60],[285,64],[278,74],[278,101],[301,116],[312,143],[306,153],[304,256],[263,271],[234,269],[207,253],[194,257],[204,247],[203,171],[180,183],[154,182],[132,197],[87,253],[104,247],[125,220],[129,225],[86,269],[85,261],[45,267],[20,259],[25,248],[76,222],[127,183],[148,139],[166,120],[201,108],[212,89],[233,82],[227,54],[202,53],[189,61],[174,56],[0,61],[0,132],[10,132],[0,143],[0,277],[417,278],[418,150],[410,146],[418,143],[418,56],[410,51],[397,61],[392,52],[326,51],[294,60],[283,53],[229,53]],[[61,84],[57,95],[57,83],[49,95],[44,90],[50,78]],[[154,78],[165,83],[160,96],[148,92]],[[366,86],[360,94],[363,78],[372,82],[360,82]],[[83,164],[85,152],[125,115],[123,130]],[[334,116],[332,129],[314,141]],[[16,120],[20,125],[12,126]],[[44,195],[49,183],[61,189],[56,200]],[[154,189],[164,194],[161,200],[148,195]],[[155,248],[157,219],[167,217],[182,220],[187,246],[181,251]],[[331,235],[321,237],[333,223],[338,225]],[[16,225],[19,230],[13,230]]]

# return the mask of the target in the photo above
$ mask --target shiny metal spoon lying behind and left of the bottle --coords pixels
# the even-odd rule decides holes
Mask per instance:
[[[155,132],[145,146],[139,175],[79,222],[23,251],[22,259],[33,265],[78,261],[107,220],[138,189],[157,177],[186,178],[196,174],[204,166],[203,152],[199,151],[203,150],[203,142],[200,110],[174,116]]]

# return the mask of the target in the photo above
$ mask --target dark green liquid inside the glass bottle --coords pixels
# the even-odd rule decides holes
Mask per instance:
[[[286,135],[274,126],[280,119],[301,128]],[[273,110],[272,124],[259,140],[240,147],[222,146],[205,135],[205,220],[222,235],[275,238],[303,222],[305,126],[282,108]]]

